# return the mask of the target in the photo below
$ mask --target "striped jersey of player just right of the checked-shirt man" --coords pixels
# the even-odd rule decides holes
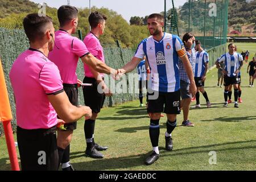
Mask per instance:
[[[209,62],[209,55],[206,51],[196,52],[195,77],[202,77],[205,72],[205,64]]]

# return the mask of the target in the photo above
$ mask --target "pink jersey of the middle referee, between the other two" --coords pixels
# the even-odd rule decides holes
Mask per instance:
[[[65,30],[55,32],[55,47],[48,58],[57,65],[64,84],[77,84],[76,68],[79,57],[89,54],[85,44]]]

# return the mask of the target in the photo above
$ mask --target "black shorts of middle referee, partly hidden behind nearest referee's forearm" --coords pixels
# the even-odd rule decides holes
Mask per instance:
[[[78,105],[78,89],[77,84],[63,84],[63,89],[65,93],[68,96],[69,102],[71,102],[72,105],[77,106]],[[73,131],[76,130],[77,122],[72,123],[65,123],[64,127],[67,130],[63,131]]]

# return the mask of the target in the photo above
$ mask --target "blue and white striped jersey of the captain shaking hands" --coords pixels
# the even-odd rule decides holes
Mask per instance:
[[[179,57],[186,54],[178,36],[164,33],[159,42],[154,40],[153,36],[142,40],[134,57],[147,57],[151,70],[152,90],[176,92],[180,89]]]

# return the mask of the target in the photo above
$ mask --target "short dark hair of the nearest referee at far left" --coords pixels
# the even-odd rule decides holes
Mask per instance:
[[[28,14],[23,19],[23,28],[28,40],[30,42],[35,42],[36,39],[42,40],[48,23],[52,23],[52,18],[47,15],[39,16],[38,13]]]

